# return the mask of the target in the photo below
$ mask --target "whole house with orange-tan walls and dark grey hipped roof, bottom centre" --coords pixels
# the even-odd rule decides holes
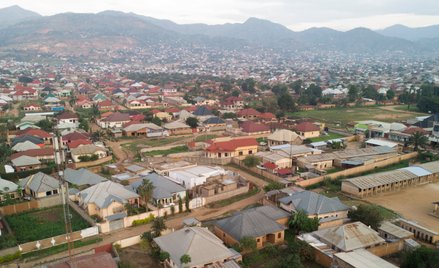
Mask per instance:
[[[214,223],[214,233],[226,245],[233,246],[243,237],[253,237],[258,249],[267,243],[284,241],[285,225],[290,214],[272,206],[261,206],[236,212]]]

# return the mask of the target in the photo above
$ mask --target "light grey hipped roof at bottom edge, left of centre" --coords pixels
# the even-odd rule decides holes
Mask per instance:
[[[173,233],[154,238],[162,251],[169,253],[177,267],[202,267],[223,262],[235,255],[207,228],[185,227]],[[183,265],[181,256],[188,254],[191,262]]]

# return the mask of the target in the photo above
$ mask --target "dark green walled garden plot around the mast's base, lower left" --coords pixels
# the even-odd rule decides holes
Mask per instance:
[[[73,209],[70,209],[70,213],[73,231],[89,227],[89,224]],[[62,206],[10,215],[6,216],[6,220],[19,244],[65,233]]]

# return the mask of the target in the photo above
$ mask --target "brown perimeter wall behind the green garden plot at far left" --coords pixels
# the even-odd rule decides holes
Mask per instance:
[[[22,203],[2,206],[0,207],[0,213],[2,215],[7,216],[32,209],[54,207],[61,204],[62,204],[61,197],[59,195],[52,195],[40,199],[33,199]]]

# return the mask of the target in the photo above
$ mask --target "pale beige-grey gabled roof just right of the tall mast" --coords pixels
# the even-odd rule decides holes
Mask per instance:
[[[108,207],[113,201],[126,204],[128,199],[138,198],[139,195],[125,189],[119,183],[104,181],[78,193],[81,204],[94,203],[100,208]]]

